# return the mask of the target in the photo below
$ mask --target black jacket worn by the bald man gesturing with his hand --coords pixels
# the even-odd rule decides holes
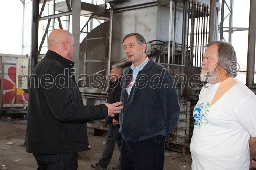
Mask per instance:
[[[74,62],[48,51],[30,76],[27,152],[62,154],[90,150],[86,122],[108,115],[106,105],[84,106]]]

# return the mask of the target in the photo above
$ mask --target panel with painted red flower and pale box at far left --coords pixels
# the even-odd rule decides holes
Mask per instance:
[[[27,78],[29,57],[24,55],[0,54],[2,65],[0,88],[0,116],[26,118],[28,104]]]

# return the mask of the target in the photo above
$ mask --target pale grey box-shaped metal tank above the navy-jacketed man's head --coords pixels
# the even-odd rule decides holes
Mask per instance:
[[[146,41],[168,41],[169,37],[169,1],[121,1],[113,5],[112,50],[113,61],[125,57],[122,39],[126,34],[137,32]],[[182,12],[177,12],[182,21]],[[182,23],[182,22],[181,22]],[[173,25],[173,24],[172,24]],[[182,25],[176,25],[176,42],[181,43]],[[172,35],[170,35],[172,36]],[[150,49],[150,46],[147,46]]]

